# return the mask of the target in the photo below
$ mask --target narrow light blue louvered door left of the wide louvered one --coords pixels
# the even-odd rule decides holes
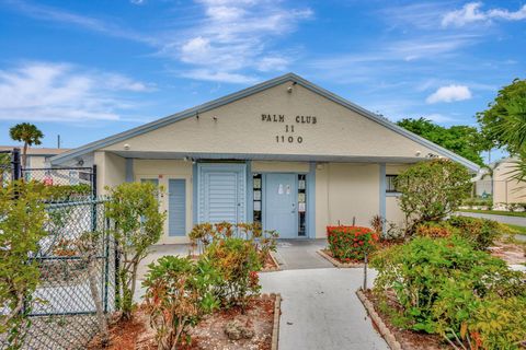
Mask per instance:
[[[186,234],[186,180],[170,178],[168,180],[168,235]]]

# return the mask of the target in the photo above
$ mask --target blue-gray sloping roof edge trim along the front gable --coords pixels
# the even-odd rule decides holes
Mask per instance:
[[[251,86],[251,88],[238,91],[236,93],[226,95],[224,97],[207,102],[207,103],[198,105],[198,106],[195,106],[193,108],[185,109],[183,112],[170,115],[168,117],[164,117],[164,118],[161,118],[161,119],[148,122],[148,124],[145,124],[142,126],[129,129],[127,131],[123,131],[123,132],[116,133],[114,136],[111,136],[111,137],[107,137],[107,138],[88,143],[85,145],[82,145],[82,147],[79,147],[77,149],[70,150],[69,152],[65,152],[62,154],[59,154],[59,155],[56,155],[56,156],[52,158],[52,163],[57,164],[57,163],[62,163],[62,162],[72,160],[72,159],[75,159],[77,156],[80,156],[80,155],[83,155],[85,153],[89,153],[89,152],[108,147],[111,144],[117,143],[119,141],[123,141],[123,140],[126,140],[126,139],[129,139],[129,138],[133,138],[133,137],[136,137],[136,136],[139,136],[139,135],[142,135],[142,133],[146,133],[146,132],[149,132],[149,131],[152,131],[152,130],[156,130],[158,128],[161,128],[163,126],[170,125],[170,124],[175,122],[175,121],[179,121],[181,119],[188,118],[188,117],[194,117],[196,114],[204,113],[204,112],[220,107],[222,105],[229,104],[231,102],[241,100],[243,97],[250,96],[252,94],[259,93],[261,91],[274,88],[276,85],[279,85],[279,84],[283,84],[283,83],[286,83],[286,82],[295,82],[295,83],[304,86],[305,89],[308,89],[308,90],[310,90],[310,91],[312,91],[317,94],[320,94],[320,95],[327,97],[328,100],[330,100],[334,103],[338,103],[338,104],[340,104],[340,105],[342,105],[342,106],[344,106],[344,107],[346,107],[346,108],[348,108],[348,109],[351,109],[351,110],[353,110],[353,112],[355,112],[355,113],[357,113],[357,114],[359,114],[359,115],[362,115],[366,118],[369,118],[369,119],[385,126],[386,128],[388,128],[388,129],[390,129],[390,130],[392,130],[392,131],[395,131],[399,135],[402,135],[402,136],[413,140],[416,143],[422,144],[423,147],[426,147],[430,150],[435,151],[438,155],[448,158],[450,160],[454,160],[454,161],[465,165],[466,167],[468,167],[471,171],[478,171],[479,170],[479,166],[477,164],[474,164],[473,162],[468,161],[467,159],[465,159],[465,158],[462,158],[462,156],[460,156],[460,155],[458,155],[458,154],[456,154],[456,153],[454,153],[449,150],[446,150],[446,149],[439,147],[438,144],[433,143],[433,142],[431,142],[431,141],[428,141],[428,140],[426,140],[426,139],[424,139],[424,138],[422,138],[422,137],[420,137],[420,136],[418,136],[418,135],[415,135],[411,131],[408,131],[404,128],[399,127],[395,122],[392,122],[392,121],[390,121],[390,120],[388,120],[388,119],[386,119],[386,118],[384,118],[379,115],[376,115],[376,114],[374,114],[374,113],[371,113],[371,112],[369,112],[369,110],[367,110],[367,109],[365,109],[365,108],[363,108],[363,107],[361,107],[361,106],[358,106],[358,105],[356,105],[356,104],[354,104],[354,103],[352,103],[352,102],[350,102],[350,101],[347,101],[343,97],[340,97],[340,96],[333,94],[332,92],[327,91],[325,89],[320,88],[320,86],[305,80],[304,78],[301,78],[299,75],[296,75],[295,73],[286,73],[284,75],[267,80],[267,81],[262,82],[260,84],[256,84],[254,86]]]

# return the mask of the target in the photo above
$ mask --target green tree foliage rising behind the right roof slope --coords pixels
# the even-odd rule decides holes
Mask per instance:
[[[474,127],[458,125],[446,128],[425,118],[407,118],[397,124],[479,165],[483,164],[480,153],[491,149],[491,143],[487,142]]]

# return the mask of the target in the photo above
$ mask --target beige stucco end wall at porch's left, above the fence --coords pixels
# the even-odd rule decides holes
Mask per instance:
[[[106,186],[114,187],[126,180],[126,160],[110,152],[99,151],[94,154],[96,165],[96,188],[99,195],[106,195]]]

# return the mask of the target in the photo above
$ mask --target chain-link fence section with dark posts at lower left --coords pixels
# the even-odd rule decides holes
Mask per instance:
[[[32,257],[41,277],[26,303],[23,349],[83,349],[100,329],[96,306],[115,311],[115,247],[104,201],[50,203],[47,213],[49,234]]]

